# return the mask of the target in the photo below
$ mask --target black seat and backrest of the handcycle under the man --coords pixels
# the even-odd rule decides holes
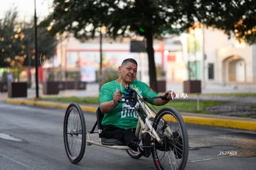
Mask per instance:
[[[126,143],[122,142],[121,140],[118,140],[116,138],[105,138],[102,137],[102,125],[101,125],[101,121],[103,119],[104,114],[101,113],[100,108],[97,108],[96,111],[96,115],[97,115],[97,124],[98,124],[98,129],[99,129],[99,137],[101,138],[101,144],[102,145],[109,145],[109,146],[126,146]]]

